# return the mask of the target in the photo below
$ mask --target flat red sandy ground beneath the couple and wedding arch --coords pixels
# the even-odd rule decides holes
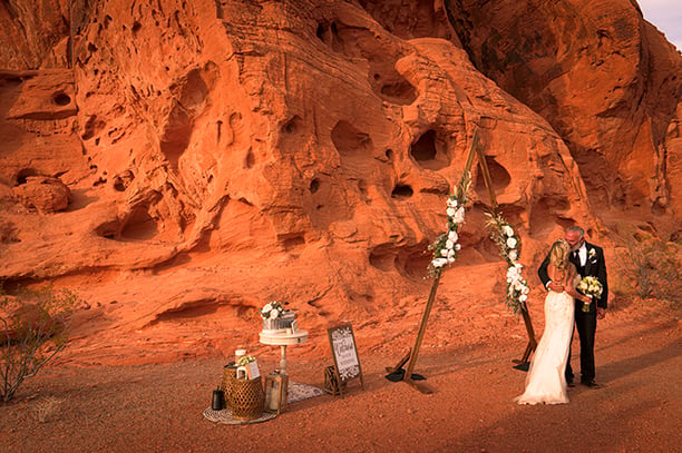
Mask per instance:
[[[418,325],[419,316],[402,324],[409,322]],[[430,325],[416,371],[428,377],[431,395],[383,377],[384,366],[413,342],[412,331],[405,341],[381,344],[370,339],[381,336],[380,326],[359,328],[364,391],[351,383],[343,398],[314,397],[272,421],[241,426],[202,415],[223,356],[85,366],[71,351],[0,406],[0,451],[680,452],[680,311],[664,303],[612,309],[597,331],[604,387],[578,385],[569,404],[556,406],[512,402],[526,375],[512,367],[525,347],[523,324],[495,334],[471,328],[442,347],[432,339],[444,325]],[[577,364],[576,343],[573,351]],[[279,360],[267,348],[259,358],[263,371]],[[293,381],[322,386],[331,358],[304,347],[290,347],[289,358]],[[48,398],[51,407],[40,420]]]

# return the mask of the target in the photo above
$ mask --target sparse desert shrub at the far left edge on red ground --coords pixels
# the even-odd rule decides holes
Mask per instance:
[[[68,343],[79,298],[46,287],[0,298],[0,400],[9,402]]]

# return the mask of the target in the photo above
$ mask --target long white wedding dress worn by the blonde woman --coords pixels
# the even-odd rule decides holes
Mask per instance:
[[[579,277],[577,277],[579,280]],[[566,361],[573,337],[574,299],[566,292],[549,292],[545,298],[545,332],[526,377],[518,404],[568,403]]]

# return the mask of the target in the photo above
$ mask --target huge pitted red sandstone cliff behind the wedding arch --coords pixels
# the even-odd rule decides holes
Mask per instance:
[[[530,269],[576,221],[680,234],[682,56],[636,3],[0,3],[0,278],[94,331],[376,315],[427,290],[475,130]],[[496,305],[474,176],[449,273]]]

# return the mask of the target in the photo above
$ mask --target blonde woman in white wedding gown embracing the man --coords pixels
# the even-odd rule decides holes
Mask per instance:
[[[518,404],[568,403],[564,371],[573,337],[574,298],[590,297],[575,290],[579,275],[568,262],[569,247],[564,239],[549,249],[547,273],[553,282],[562,282],[564,290],[551,290],[545,298],[545,332],[540,338],[526,377],[526,391],[514,398]]]

